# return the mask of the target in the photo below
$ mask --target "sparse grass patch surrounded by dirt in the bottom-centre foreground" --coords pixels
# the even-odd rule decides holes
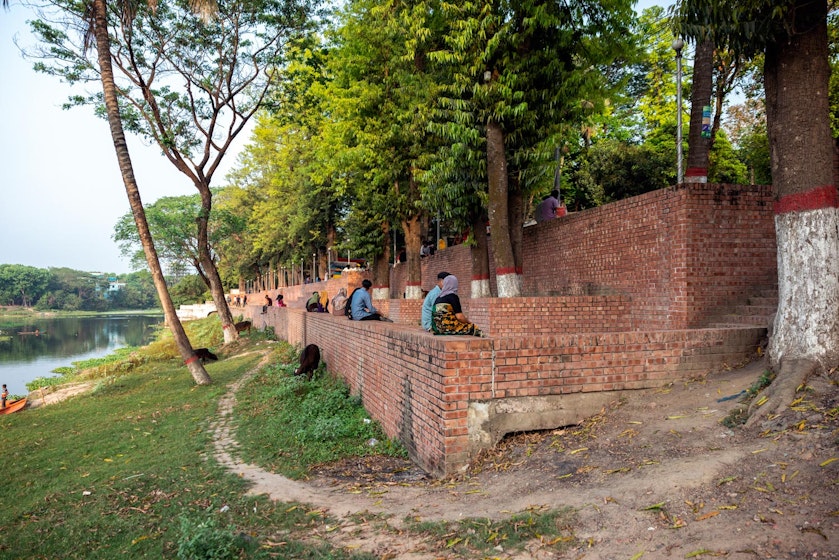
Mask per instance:
[[[465,558],[486,558],[499,551],[522,551],[528,543],[541,542],[556,553],[579,544],[574,536],[576,513],[572,508],[532,509],[508,519],[468,518],[452,521],[406,519],[409,531],[437,541],[439,548]]]

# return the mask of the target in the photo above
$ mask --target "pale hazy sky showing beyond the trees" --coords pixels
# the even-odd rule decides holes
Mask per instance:
[[[636,10],[668,4],[641,0]],[[107,121],[91,107],[62,109],[79,90],[23,58],[17,44],[35,43],[26,23],[33,18],[15,0],[0,12],[0,264],[131,272],[112,239],[130,208]],[[227,154],[215,186],[247,140],[243,133]],[[144,204],[197,192],[156,147],[130,135],[128,142]]]

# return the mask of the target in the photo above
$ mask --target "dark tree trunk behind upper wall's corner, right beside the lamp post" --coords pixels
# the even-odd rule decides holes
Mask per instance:
[[[711,139],[702,136],[702,114],[705,107],[711,105],[713,87],[714,44],[711,39],[706,38],[697,42],[696,54],[693,59],[693,90],[690,94],[686,183],[708,182]],[[710,125],[710,123],[708,124]]]

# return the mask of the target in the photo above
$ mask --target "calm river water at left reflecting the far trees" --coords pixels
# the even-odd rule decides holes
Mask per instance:
[[[56,375],[52,372],[56,368],[151,342],[154,327],[162,322],[162,314],[3,320],[0,383],[12,395],[26,395],[26,383]]]

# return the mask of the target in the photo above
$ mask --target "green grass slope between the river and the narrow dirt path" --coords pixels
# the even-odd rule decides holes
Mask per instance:
[[[259,358],[208,365],[213,384],[203,387],[178,360],[148,360],[98,379],[92,394],[0,417],[0,558],[177,558],[230,534],[231,558],[366,558],[295,539],[279,551],[248,548],[328,521],[246,496],[245,482],[212,458],[218,400]]]

